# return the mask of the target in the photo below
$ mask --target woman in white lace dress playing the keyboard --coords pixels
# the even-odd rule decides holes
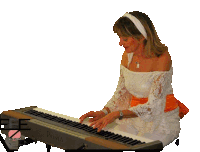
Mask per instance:
[[[160,140],[165,147],[179,137],[180,118],[189,112],[173,95],[173,67],[167,47],[160,43],[148,16],[137,11],[119,18],[114,32],[125,48],[119,83],[90,126],[100,131],[115,121],[120,130]],[[92,115],[90,112],[80,119]]]

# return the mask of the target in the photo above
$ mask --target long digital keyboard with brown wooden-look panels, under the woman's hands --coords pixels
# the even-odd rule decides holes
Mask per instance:
[[[80,149],[80,147],[83,149],[163,149],[161,141],[123,132],[117,129],[118,125],[115,122],[97,132],[97,128],[93,129],[89,126],[89,118],[81,124],[78,118],[36,106],[3,111],[2,118],[12,118],[16,121],[24,119],[21,123],[27,125],[20,126],[23,136],[64,150]],[[15,128],[19,128],[17,124]],[[4,128],[9,129],[9,125]],[[1,130],[1,133],[8,135],[8,131]]]

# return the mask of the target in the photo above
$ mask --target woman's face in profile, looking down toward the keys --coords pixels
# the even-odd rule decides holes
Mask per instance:
[[[134,39],[133,37],[120,37],[120,42],[119,45],[125,48],[125,51],[127,53],[132,53],[134,52],[135,54],[141,54],[142,49],[138,49],[143,47],[143,40],[145,38],[140,39],[139,41],[137,39]],[[142,44],[142,45],[141,45]]]

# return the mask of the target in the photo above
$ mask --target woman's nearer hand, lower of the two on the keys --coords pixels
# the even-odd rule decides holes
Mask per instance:
[[[115,121],[115,119],[117,119],[117,113],[112,112],[109,113],[108,115],[104,116],[103,118],[96,120],[94,122],[92,122],[89,126],[93,126],[93,128],[98,128],[97,132],[100,132],[102,128],[106,127],[107,124],[112,123],[113,121]]]

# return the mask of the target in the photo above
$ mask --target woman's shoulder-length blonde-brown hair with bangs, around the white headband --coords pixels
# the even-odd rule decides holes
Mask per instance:
[[[165,51],[168,50],[168,47],[160,42],[155,27],[153,26],[153,23],[146,14],[138,11],[129,12],[129,14],[135,16],[138,20],[140,20],[147,32],[147,39],[144,40],[144,53],[147,58],[152,58],[155,56],[160,57]],[[115,22],[113,26],[113,31],[114,33],[117,33],[118,36],[133,37],[137,40],[143,37],[143,35],[139,32],[134,23],[127,17],[120,17]]]

